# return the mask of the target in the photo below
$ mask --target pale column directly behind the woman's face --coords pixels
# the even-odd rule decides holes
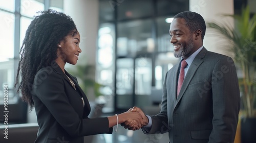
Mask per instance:
[[[64,0],[63,12],[73,18],[80,33],[80,49],[77,64],[95,65],[98,39],[99,8],[97,0]],[[66,68],[75,65],[66,64]],[[94,76],[94,75],[92,75]],[[79,82],[79,81],[78,81]],[[94,101],[94,89],[86,92],[89,101]]]

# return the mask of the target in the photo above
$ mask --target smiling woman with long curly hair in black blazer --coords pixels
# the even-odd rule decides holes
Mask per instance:
[[[125,122],[141,127],[142,116],[130,110],[119,115],[88,118],[90,105],[77,79],[65,70],[76,64],[80,35],[69,16],[47,10],[35,16],[26,32],[18,78],[18,92],[35,107],[39,130],[35,142],[83,142],[83,136],[112,133],[112,127]]]

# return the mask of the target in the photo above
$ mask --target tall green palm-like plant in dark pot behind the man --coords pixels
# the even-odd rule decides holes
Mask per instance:
[[[223,38],[230,41],[227,50],[233,53],[234,62],[242,71],[242,78],[239,78],[243,116],[241,118],[241,138],[242,142],[253,142],[256,140],[256,14],[251,15],[247,6],[242,8],[240,15],[224,16],[234,19],[235,28],[227,24],[220,25],[217,22],[207,22],[206,24],[207,27],[214,29]],[[254,137],[253,140],[251,140],[252,137]]]

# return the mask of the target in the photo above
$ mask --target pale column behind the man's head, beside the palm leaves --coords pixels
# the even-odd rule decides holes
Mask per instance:
[[[204,17],[205,22],[217,21],[219,23],[228,23],[232,27],[234,22],[231,18],[223,18],[222,14],[234,13],[233,0],[190,0],[189,10],[197,12]],[[225,50],[223,50],[223,43],[227,43],[226,40],[220,38],[219,36],[214,36],[212,30],[206,28],[204,46],[208,51],[229,55]]]

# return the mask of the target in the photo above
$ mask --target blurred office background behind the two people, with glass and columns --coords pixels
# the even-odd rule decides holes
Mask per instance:
[[[173,56],[168,33],[174,15],[195,11],[206,21],[235,25],[232,19],[223,20],[220,15],[239,14],[243,5],[256,13],[254,0],[0,0],[0,111],[4,110],[4,85],[8,85],[10,127],[28,125],[31,138],[35,138],[38,127],[34,110],[29,111],[20,100],[14,83],[19,49],[37,11],[50,8],[64,12],[76,23],[82,53],[77,65],[67,64],[66,69],[82,83],[84,79],[76,75],[77,66],[91,66],[88,77],[103,86],[98,89],[100,97],[95,96],[94,87],[87,88],[86,94],[92,106],[90,116],[99,117],[125,112],[133,106],[147,115],[160,112],[165,73],[179,62]],[[224,39],[206,31],[206,49],[230,56],[219,48],[221,42]],[[0,119],[1,126],[3,116]],[[25,136],[25,132],[17,130],[17,136]],[[168,142],[167,134],[145,135],[141,130],[129,131],[121,126],[113,134],[85,138],[85,142]]]

